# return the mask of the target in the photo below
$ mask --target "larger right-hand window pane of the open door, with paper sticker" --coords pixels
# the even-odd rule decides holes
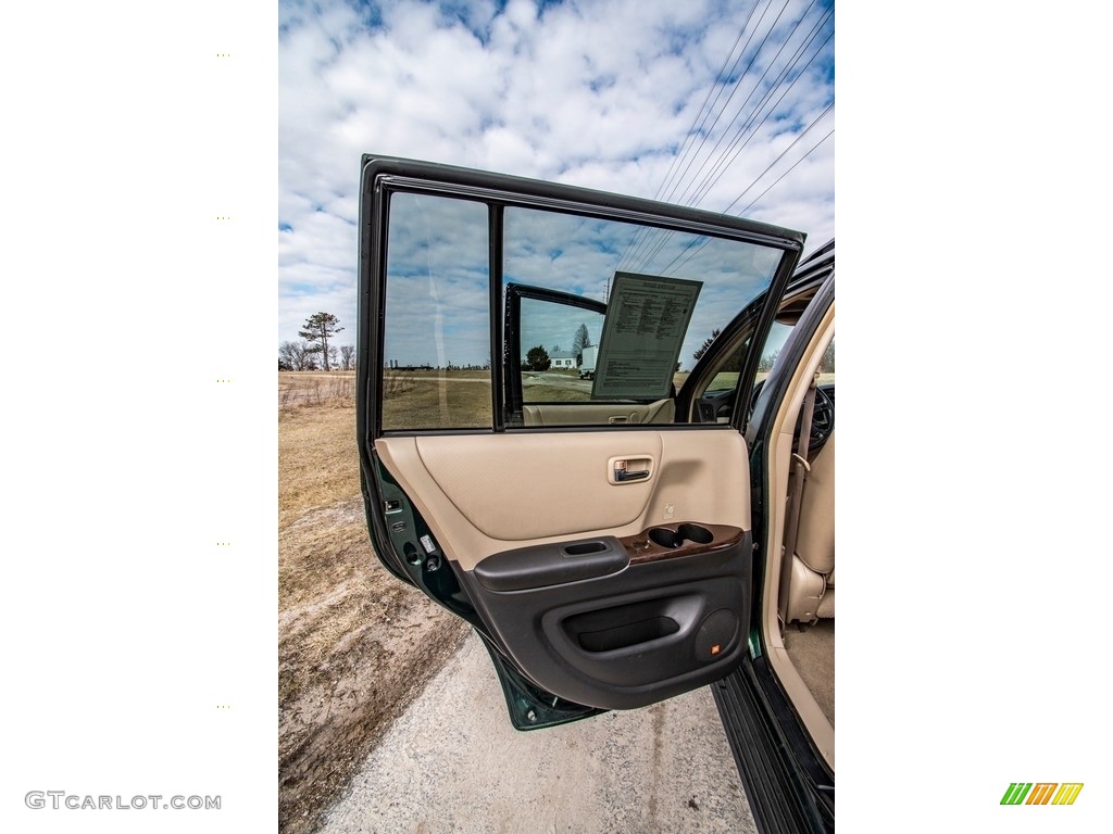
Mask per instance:
[[[673,396],[703,342],[768,289],[780,259],[755,244],[520,207],[505,211],[504,241],[506,285],[607,306],[592,317],[523,300],[519,332],[508,334],[522,354],[522,403],[551,414],[561,404]],[[577,413],[614,425],[607,409]]]

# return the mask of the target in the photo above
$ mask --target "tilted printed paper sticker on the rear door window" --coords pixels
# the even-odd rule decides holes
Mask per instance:
[[[592,399],[663,399],[702,281],[615,272]]]

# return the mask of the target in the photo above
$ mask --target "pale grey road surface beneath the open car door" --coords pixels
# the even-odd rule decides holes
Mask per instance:
[[[706,687],[519,733],[472,634],[325,816],[347,832],[754,832]]]

